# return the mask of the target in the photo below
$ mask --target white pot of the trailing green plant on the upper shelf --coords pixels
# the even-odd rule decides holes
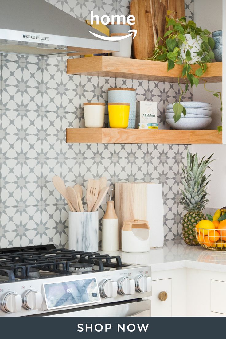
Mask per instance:
[[[199,52],[201,49],[201,43],[203,42],[203,39],[200,35],[197,36],[196,39],[192,39],[190,34],[185,34],[186,43],[182,43],[181,45],[181,57],[183,60],[186,58],[186,52],[189,49],[191,52],[191,61],[189,61],[189,64],[194,64],[199,61],[201,61],[202,57],[198,57],[195,52]],[[192,46],[193,48],[190,48],[189,46]]]

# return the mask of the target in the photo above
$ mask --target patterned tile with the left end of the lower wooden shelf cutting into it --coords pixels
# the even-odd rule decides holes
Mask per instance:
[[[45,112],[43,114],[42,154],[45,158],[78,158],[79,144],[66,143],[66,128],[79,128],[80,114]]]

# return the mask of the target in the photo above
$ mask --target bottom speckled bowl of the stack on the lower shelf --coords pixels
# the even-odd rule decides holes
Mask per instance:
[[[203,129],[211,123],[211,118],[187,118],[174,122],[173,118],[166,119],[167,124],[174,129]]]

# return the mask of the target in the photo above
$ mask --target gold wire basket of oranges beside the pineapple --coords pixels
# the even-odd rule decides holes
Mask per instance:
[[[226,241],[222,239],[222,232],[224,231],[196,227],[196,239],[208,250],[226,251]]]

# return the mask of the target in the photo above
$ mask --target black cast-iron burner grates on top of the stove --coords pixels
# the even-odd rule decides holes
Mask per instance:
[[[127,265],[122,264],[119,256],[76,252],[55,248],[54,245],[0,249],[0,283],[4,279],[1,277],[7,277],[8,281],[38,279],[46,276],[46,272],[50,272],[52,276],[69,275],[78,272],[108,271],[110,268],[125,266]]]

